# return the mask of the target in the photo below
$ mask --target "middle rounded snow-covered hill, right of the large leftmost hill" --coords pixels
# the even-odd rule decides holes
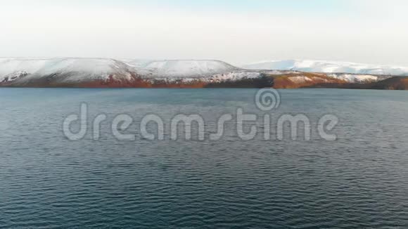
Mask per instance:
[[[238,70],[237,67],[219,60],[124,60],[138,72],[158,78],[208,77]]]

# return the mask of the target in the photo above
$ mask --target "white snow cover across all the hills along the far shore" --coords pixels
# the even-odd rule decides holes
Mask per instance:
[[[32,81],[53,77],[57,82],[81,82],[92,79],[130,80],[132,75],[168,82],[221,82],[241,79],[255,79],[262,74],[291,74],[291,81],[303,83],[313,80],[302,72],[374,72],[385,70],[355,63],[334,63],[313,60],[285,60],[258,63],[247,66],[254,70],[242,70],[219,60],[114,60],[108,58],[0,58],[0,82]],[[273,70],[274,68],[278,70]],[[280,70],[279,70],[280,69]],[[402,68],[400,69],[401,72]],[[408,69],[407,69],[408,72]],[[394,72],[395,73],[395,72]],[[350,83],[379,81],[388,76],[350,73],[321,73],[333,79]]]

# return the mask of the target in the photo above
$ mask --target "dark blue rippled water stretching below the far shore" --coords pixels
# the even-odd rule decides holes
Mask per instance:
[[[198,113],[207,136],[237,107],[261,114],[255,93],[0,89],[0,228],[408,228],[406,91],[281,91],[273,118],[336,114],[336,141],[243,141],[234,123],[220,140],[148,140],[136,127]],[[82,102],[108,117],[99,140],[63,135]],[[122,113],[135,140],[110,134]]]

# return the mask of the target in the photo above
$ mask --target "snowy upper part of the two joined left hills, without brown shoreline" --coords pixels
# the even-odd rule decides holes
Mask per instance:
[[[257,72],[242,71],[220,60],[115,60],[109,58],[0,58],[0,82],[32,81],[82,83],[84,81],[217,81],[253,78]],[[53,79],[50,79],[50,78]],[[18,81],[18,82],[17,82]]]

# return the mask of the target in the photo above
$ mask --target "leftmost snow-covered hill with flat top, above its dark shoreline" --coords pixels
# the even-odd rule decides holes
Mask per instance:
[[[133,69],[103,58],[0,58],[0,82],[18,80],[77,83],[94,79],[131,79]]]

